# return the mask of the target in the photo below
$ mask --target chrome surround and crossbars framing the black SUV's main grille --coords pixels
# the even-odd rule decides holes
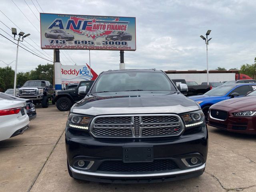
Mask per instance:
[[[140,133],[139,133],[139,136],[136,136],[135,135],[135,132],[134,132],[134,129],[131,128],[132,130],[132,136],[127,136],[127,137],[121,137],[121,136],[118,136],[118,137],[108,137],[108,136],[96,136],[93,132],[93,128],[94,128],[94,125],[95,124],[95,121],[97,118],[104,118],[104,117],[122,117],[122,116],[175,116],[178,118],[178,123],[180,125],[180,133],[179,134],[173,134],[173,135],[161,135],[161,136],[142,136],[142,128],[140,128]],[[131,118],[132,119],[132,123],[134,123],[134,118]],[[140,118],[141,119],[141,118]],[[163,123],[164,124],[164,123]],[[143,126],[143,125],[142,125]],[[96,127],[98,128],[98,127]],[[143,127],[143,128],[147,128],[147,127]],[[154,127],[153,127],[154,128]],[[157,128],[157,127],[156,127]],[[120,128],[119,128],[120,129]],[[128,128],[129,129],[129,128]],[[185,130],[185,126],[182,122],[182,119],[180,118],[180,116],[176,115],[176,114],[122,114],[122,115],[100,115],[100,116],[96,116],[93,118],[92,122],[90,123],[90,128],[89,128],[89,132],[90,134],[92,134],[93,137],[95,138],[158,138],[158,137],[173,137],[173,136],[180,136]]]

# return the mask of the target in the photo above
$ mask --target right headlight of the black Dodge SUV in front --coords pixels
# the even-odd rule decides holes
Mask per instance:
[[[186,128],[204,124],[204,113],[202,110],[190,112],[188,114],[182,115],[181,117],[185,122]]]

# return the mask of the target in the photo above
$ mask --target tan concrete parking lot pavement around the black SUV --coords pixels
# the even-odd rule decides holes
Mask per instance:
[[[198,178],[150,184],[102,184],[70,178],[64,127],[68,112],[37,106],[37,118],[24,134],[0,142],[1,192],[256,191],[256,136],[208,126],[206,171]]]

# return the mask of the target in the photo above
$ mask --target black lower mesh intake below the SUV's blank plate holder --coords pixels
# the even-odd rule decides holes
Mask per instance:
[[[177,164],[170,159],[154,160],[153,162],[124,163],[122,161],[105,161],[98,171],[107,172],[147,172],[178,169]]]

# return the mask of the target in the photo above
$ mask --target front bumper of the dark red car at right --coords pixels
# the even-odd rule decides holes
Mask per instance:
[[[213,109],[213,108],[212,108]],[[229,132],[243,133],[243,134],[256,134],[256,117],[242,117],[234,116],[232,113],[238,112],[236,109],[230,110],[230,108],[215,106],[215,110],[228,111],[228,117],[226,120],[218,120],[208,115],[208,125],[218,129],[226,130]]]

